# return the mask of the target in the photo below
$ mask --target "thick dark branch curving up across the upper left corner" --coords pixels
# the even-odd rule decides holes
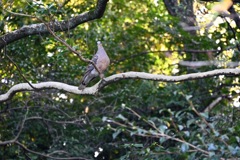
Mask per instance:
[[[65,21],[55,21],[49,23],[49,26],[54,32],[66,31],[77,27],[79,24],[88,22],[94,19],[101,18],[106,9],[108,0],[98,0],[95,10],[91,10],[82,14],[77,15],[69,20]],[[12,43],[21,38],[27,37],[29,35],[44,34],[49,33],[46,25],[44,23],[32,24],[23,26],[22,28],[15,30],[13,32],[7,33],[0,37],[0,49],[9,43]]]

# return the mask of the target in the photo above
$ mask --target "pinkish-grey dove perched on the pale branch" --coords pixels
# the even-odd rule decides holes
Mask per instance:
[[[96,54],[93,56],[92,62],[98,68],[100,74],[93,64],[89,64],[84,76],[81,79],[80,85],[78,87],[79,90],[85,89],[88,83],[98,76],[100,76],[100,78],[102,79],[104,77],[104,72],[106,71],[110,64],[110,59],[100,41],[97,42],[97,47],[98,50]]]

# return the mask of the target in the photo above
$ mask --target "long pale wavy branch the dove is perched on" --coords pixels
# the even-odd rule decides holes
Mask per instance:
[[[194,79],[203,79],[207,77],[213,77],[218,75],[232,75],[238,76],[240,75],[240,69],[218,69],[208,72],[202,73],[191,73],[186,75],[180,76],[166,76],[166,75],[157,75],[157,74],[150,74],[144,72],[126,72],[126,73],[119,73],[103,80],[99,81],[92,87],[85,88],[84,90],[78,90],[78,87],[68,85],[61,82],[41,82],[38,84],[32,84],[38,90],[43,89],[58,89],[63,90],[73,94],[79,95],[94,95],[99,90],[103,89],[105,86],[120,81],[122,79],[145,79],[145,80],[152,80],[152,81],[163,81],[163,82],[181,82],[187,80],[194,80]],[[28,83],[20,83],[8,90],[7,93],[0,95],[0,102],[7,101],[12,98],[12,96],[17,92],[22,91],[34,91],[34,89],[29,86]]]

